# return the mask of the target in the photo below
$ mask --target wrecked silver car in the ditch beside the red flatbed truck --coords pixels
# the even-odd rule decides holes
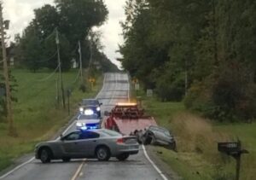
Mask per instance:
[[[137,141],[144,145],[161,145],[176,150],[174,136],[164,127],[150,125],[148,129],[136,131],[135,134]]]

